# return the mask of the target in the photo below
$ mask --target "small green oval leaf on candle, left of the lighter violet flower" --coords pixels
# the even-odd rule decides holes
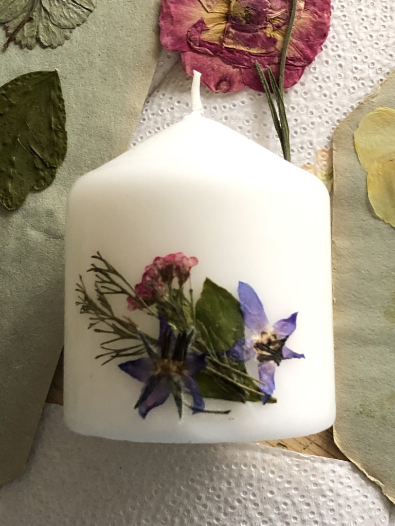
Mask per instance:
[[[215,351],[227,351],[244,336],[239,301],[228,290],[206,278],[202,295],[196,303],[196,320],[206,329],[202,334]]]

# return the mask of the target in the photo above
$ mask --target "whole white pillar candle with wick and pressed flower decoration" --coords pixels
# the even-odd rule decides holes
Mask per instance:
[[[71,191],[64,395],[65,419],[76,432],[143,442],[256,441],[304,436],[333,423],[327,190],[307,171],[204,118],[201,111],[196,75],[189,116],[81,177]],[[127,285],[110,274],[124,290],[99,282],[100,276],[107,281],[108,273],[86,272],[92,262],[105,268],[103,260],[92,259],[97,252],[111,265],[110,272],[115,269],[125,279]],[[167,347],[156,342],[159,321],[152,316],[162,304],[152,304],[143,286],[134,288],[155,257],[176,254],[167,259],[180,260],[179,252],[199,260],[198,264],[195,259],[182,260],[186,271],[190,266],[195,307],[206,278],[236,299],[241,295],[239,305],[223,289],[209,286],[204,289],[205,301],[191,310],[186,303],[189,281],[185,282],[185,309],[195,312],[200,322],[195,318],[190,323],[195,328],[193,340],[184,351],[199,362],[199,373],[186,362],[180,366],[180,357],[163,361],[161,352]],[[169,284],[164,283],[166,276],[155,274],[161,264],[160,259],[150,267],[156,288],[148,290],[149,294],[155,290],[156,299],[163,302]],[[80,275],[90,299],[84,296],[81,282],[75,290]],[[145,287],[152,283],[148,278],[144,277]],[[95,282],[102,293],[117,294],[102,294],[100,304]],[[177,278],[172,286],[174,298]],[[211,296],[209,289],[214,290]],[[149,308],[139,304],[141,297]],[[81,298],[83,305],[76,305]],[[87,301],[93,301],[94,307]],[[128,310],[128,306],[140,308]],[[102,309],[101,321],[89,327],[97,321],[97,308]],[[207,317],[204,328],[202,319]],[[284,319],[288,321],[276,323]],[[134,323],[152,337],[150,343],[139,332],[135,339],[126,339],[128,331],[136,330]],[[117,335],[126,333],[125,339],[104,344],[117,338],[114,326]],[[173,328],[182,332],[174,324]],[[167,332],[169,336],[170,329]],[[204,351],[203,344],[211,349]],[[173,348],[174,342],[170,355]],[[293,356],[289,349],[304,358],[287,359]],[[129,356],[133,352],[140,354]],[[95,358],[104,353],[108,354]],[[142,357],[141,366],[132,363]],[[102,365],[109,358],[114,359]],[[234,372],[238,360],[246,372]],[[165,369],[172,376],[165,376]],[[260,378],[260,383],[248,382],[248,375]],[[202,378],[209,378],[211,386],[221,385],[225,398],[247,401],[209,398]],[[175,398],[169,389],[174,389]],[[142,393],[148,398],[135,409]],[[263,403],[269,395],[275,403],[269,403],[272,398]],[[148,412],[153,400],[158,405]],[[191,407],[199,410],[193,412]]]

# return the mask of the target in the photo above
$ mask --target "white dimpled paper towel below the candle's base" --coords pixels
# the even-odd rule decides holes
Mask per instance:
[[[83,437],[62,417],[46,405],[25,474],[0,489],[1,526],[391,524],[390,502],[350,462]]]

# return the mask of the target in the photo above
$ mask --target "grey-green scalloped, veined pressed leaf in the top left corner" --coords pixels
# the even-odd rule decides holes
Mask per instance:
[[[70,38],[96,6],[96,0],[0,0],[0,23],[8,40],[33,49],[37,42],[55,48]]]

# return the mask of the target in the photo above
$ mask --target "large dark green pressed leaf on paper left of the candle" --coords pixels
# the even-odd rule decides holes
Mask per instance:
[[[55,178],[67,151],[66,114],[56,71],[27,73],[0,88],[0,203],[22,205]]]

